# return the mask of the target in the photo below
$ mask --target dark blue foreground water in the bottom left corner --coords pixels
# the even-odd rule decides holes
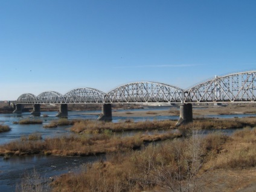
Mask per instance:
[[[25,173],[36,170],[40,177],[48,181],[54,176],[68,173],[69,171],[79,171],[80,165],[89,162],[105,159],[101,156],[88,157],[62,157],[62,156],[13,156],[8,160],[0,159],[0,191],[15,191],[21,178]]]

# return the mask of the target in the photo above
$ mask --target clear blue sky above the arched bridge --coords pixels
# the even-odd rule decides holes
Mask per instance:
[[[255,0],[0,1],[0,100],[255,68]]]

